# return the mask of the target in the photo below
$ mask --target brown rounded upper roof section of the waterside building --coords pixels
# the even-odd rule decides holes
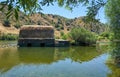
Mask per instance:
[[[24,25],[19,38],[54,38],[53,26]]]

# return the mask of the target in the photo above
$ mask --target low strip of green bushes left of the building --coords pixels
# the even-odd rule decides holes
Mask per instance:
[[[15,34],[2,34],[0,40],[17,40],[18,35]]]

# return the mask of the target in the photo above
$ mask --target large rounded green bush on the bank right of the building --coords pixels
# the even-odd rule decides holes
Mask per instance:
[[[70,31],[69,37],[71,40],[75,40],[75,43],[78,45],[91,45],[96,43],[96,34],[80,27],[73,28]]]

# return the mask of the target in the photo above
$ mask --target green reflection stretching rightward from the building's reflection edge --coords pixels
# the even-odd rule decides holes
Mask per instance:
[[[71,48],[56,48],[55,59],[71,58],[73,61],[84,62],[90,61],[100,54],[95,47],[71,47]]]

